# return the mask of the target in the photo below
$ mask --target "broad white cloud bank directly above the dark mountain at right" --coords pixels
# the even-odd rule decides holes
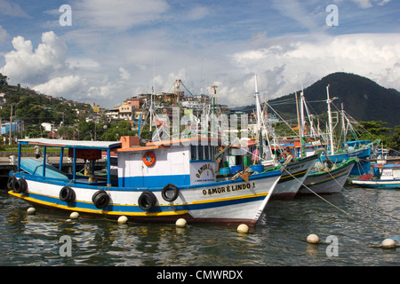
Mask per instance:
[[[244,74],[259,74],[260,92],[266,91],[268,98],[298,91],[301,83],[307,87],[325,75],[340,71],[364,75],[385,87],[400,90],[400,35],[397,34],[292,38],[290,42],[282,40],[281,44],[236,52],[232,60]],[[252,91],[245,83],[238,90]]]

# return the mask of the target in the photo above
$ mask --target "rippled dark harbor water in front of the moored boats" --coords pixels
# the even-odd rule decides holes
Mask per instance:
[[[342,193],[269,201],[250,233],[236,225],[118,225],[36,209],[0,190],[0,265],[44,266],[396,266],[400,191],[348,187]],[[329,202],[329,203],[328,203]],[[341,210],[340,210],[341,209]],[[344,212],[343,212],[343,211]],[[315,233],[319,244],[308,244]],[[68,246],[68,247],[67,247]],[[69,249],[69,250],[68,250]]]

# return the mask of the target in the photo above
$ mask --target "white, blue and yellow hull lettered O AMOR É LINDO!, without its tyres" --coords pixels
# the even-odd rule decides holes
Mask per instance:
[[[24,193],[11,190],[13,196],[36,206],[67,212],[79,212],[81,216],[105,218],[128,217],[134,222],[173,222],[184,217],[190,222],[256,225],[260,214],[273,193],[281,176],[280,170],[252,175],[246,182],[242,178],[204,185],[180,186],[175,201],[165,201],[163,187],[125,188],[68,183],[63,180],[13,174],[27,182]],[[60,190],[66,186],[75,192],[75,201],[60,200]],[[108,193],[110,201],[104,209],[98,209],[92,196],[99,190]],[[148,210],[140,208],[139,198],[144,192],[156,197],[155,205]]]

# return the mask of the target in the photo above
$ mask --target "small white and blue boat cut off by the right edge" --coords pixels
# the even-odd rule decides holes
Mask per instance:
[[[400,189],[400,164],[376,164],[373,175],[350,178],[352,185],[378,189]]]

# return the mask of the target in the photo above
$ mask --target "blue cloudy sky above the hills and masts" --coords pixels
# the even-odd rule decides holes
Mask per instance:
[[[400,91],[400,1],[0,0],[9,83],[108,109],[177,79],[246,106],[254,75],[274,99],[334,72]]]

